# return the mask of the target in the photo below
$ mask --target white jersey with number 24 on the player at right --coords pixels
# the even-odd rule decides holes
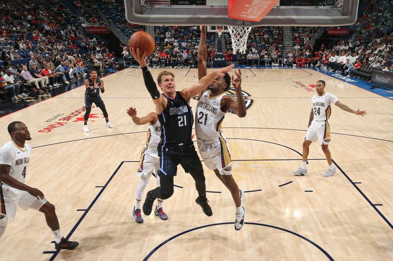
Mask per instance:
[[[330,104],[336,104],[338,98],[335,95],[325,93],[322,96],[314,95],[311,99],[311,108],[314,113],[314,120],[327,120],[332,114]]]

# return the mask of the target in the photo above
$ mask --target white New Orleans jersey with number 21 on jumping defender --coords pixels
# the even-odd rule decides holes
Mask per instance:
[[[217,141],[221,136],[221,123],[225,112],[221,110],[221,99],[226,94],[210,97],[207,90],[199,99],[196,112],[195,133],[197,139],[204,141]]]

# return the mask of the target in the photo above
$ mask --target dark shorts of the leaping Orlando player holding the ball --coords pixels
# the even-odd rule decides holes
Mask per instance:
[[[203,172],[202,164],[195,150],[194,143],[180,143],[178,145],[163,146],[158,144],[158,156],[160,157],[159,175],[176,176],[177,165],[181,165],[186,173]]]

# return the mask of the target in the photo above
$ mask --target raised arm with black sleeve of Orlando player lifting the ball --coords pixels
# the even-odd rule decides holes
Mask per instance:
[[[143,59],[143,57],[146,55],[146,51],[144,51],[141,55],[139,53],[139,48],[135,49],[132,47],[131,54],[134,56],[135,60],[139,63],[140,68],[142,69],[144,85],[152,97],[154,105],[156,105],[157,114],[161,114],[167,107],[168,100],[165,99],[158,91],[153,76],[147,68],[146,61]]]

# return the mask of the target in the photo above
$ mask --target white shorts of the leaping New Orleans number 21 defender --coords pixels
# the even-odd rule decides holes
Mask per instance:
[[[221,175],[232,175],[230,150],[224,135],[214,143],[197,139],[197,144],[200,156],[208,168],[218,169]]]

